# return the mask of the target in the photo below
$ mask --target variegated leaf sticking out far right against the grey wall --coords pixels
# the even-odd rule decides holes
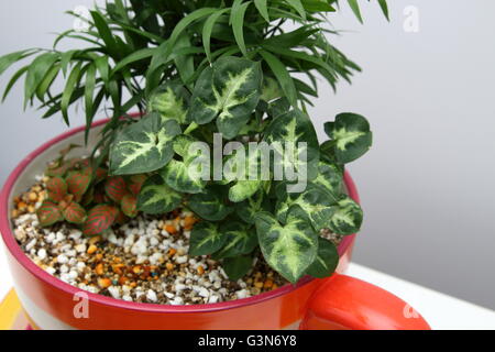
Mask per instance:
[[[348,164],[361,157],[373,143],[370,123],[360,114],[338,114],[334,122],[324,124],[324,131],[332,140],[334,156],[341,164]]]

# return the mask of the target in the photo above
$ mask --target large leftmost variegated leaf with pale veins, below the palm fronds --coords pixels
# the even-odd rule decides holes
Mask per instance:
[[[110,147],[110,173],[143,174],[165,166],[174,156],[172,141],[179,133],[176,121],[162,123],[158,113],[125,127]]]

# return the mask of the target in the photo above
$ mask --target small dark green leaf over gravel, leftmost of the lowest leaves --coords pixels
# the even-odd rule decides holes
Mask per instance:
[[[209,255],[220,250],[227,241],[227,235],[218,231],[211,222],[199,222],[190,232],[189,255]]]

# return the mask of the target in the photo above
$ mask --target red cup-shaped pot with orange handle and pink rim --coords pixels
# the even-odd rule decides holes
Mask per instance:
[[[106,121],[97,122],[95,130]],[[96,138],[97,133],[92,133]],[[95,142],[95,141],[94,141]],[[31,153],[13,170],[0,195],[0,231],[7,246],[15,292],[34,328],[40,329],[429,329],[394,295],[342,275],[355,235],[339,246],[338,273],[330,278],[302,278],[270,293],[233,301],[160,306],[128,302],[81,292],[35,265],[18,245],[9,215],[12,199],[28,189],[46,162],[69,143],[84,145],[84,128],[62,134]],[[91,145],[91,143],[89,143]],[[78,151],[80,153],[80,150]],[[350,196],[358,191],[345,174]],[[77,314],[86,305],[87,317]],[[268,312],[268,314],[267,314]]]

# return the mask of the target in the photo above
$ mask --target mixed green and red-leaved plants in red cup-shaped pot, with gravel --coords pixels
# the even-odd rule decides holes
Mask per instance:
[[[339,114],[320,143],[307,114],[318,77],[334,87],[359,70],[326,38],[336,6],[114,0],[72,13],[88,30],[52,50],[0,58],[1,74],[34,56],[4,96],[25,77],[25,105],[38,101],[43,118],[68,124],[80,102],[87,121],[2,190],[1,232],[34,327],[428,327],[380,288],[332,276],[363,217],[344,165],[372,144],[362,116]],[[86,47],[59,51],[66,38]],[[95,122],[101,107],[110,118]]]

